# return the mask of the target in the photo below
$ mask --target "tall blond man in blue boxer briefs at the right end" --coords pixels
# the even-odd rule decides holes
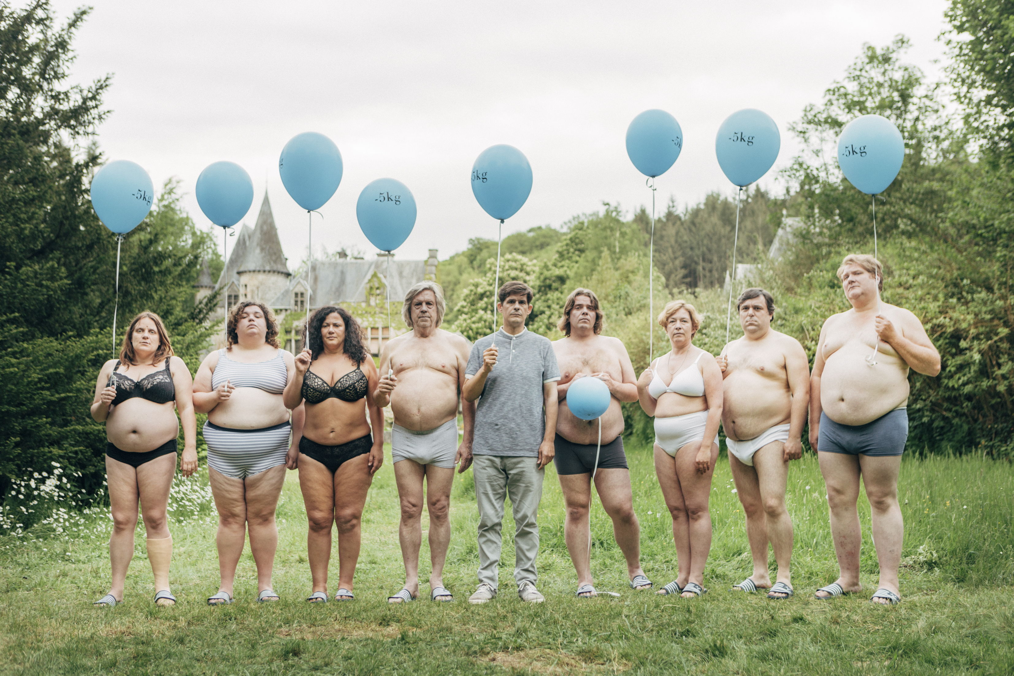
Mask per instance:
[[[909,371],[937,375],[940,353],[919,317],[880,300],[879,260],[847,255],[838,277],[852,308],[832,314],[820,329],[810,375],[810,446],[817,449],[827,485],[840,574],[814,595],[831,599],[863,589],[856,509],[862,478],[880,565],[880,581],[870,601],[895,604],[901,600],[897,569],[904,528],[897,475],[909,438]]]

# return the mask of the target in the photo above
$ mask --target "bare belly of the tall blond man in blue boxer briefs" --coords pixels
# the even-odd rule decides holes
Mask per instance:
[[[820,407],[842,425],[866,425],[909,401],[908,366],[899,358],[877,355],[862,345],[843,346],[827,358],[820,376]]]

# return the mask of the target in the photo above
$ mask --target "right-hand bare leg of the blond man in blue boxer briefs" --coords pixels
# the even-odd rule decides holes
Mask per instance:
[[[904,524],[901,508],[897,504],[897,474],[901,469],[900,455],[859,456],[863,471],[863,485],[870,501],[870,528],[873,545],[880,565],[879,587],[889,589],[898,596],[897,567],[901,562],[901,541]],[[887,599],[873,599],[874,603],[889,603]]]

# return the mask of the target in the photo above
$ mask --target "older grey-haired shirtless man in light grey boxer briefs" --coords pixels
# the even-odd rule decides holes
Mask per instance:
[[[402,503],[399,541],[405,561],[405,586],[388,597],[389,603],[419,596],[424,478],[430,514],[430,600],[453,600],[443,586],[450,543],[450,489],[454,465],[463,472],[472,464],[476,406],[461,401],[464,437],[458,445],[458,399],[472,346],[440,328],[444,309],[443,290],[436,282],[420,282],[409,289],[402,317],[412,330],[391,340],[380,353],[381,377],[373,400],[380,407],[389,403],[394,414],[390,450]]]

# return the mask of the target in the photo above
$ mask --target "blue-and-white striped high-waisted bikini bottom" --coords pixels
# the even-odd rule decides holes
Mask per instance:
[[[233,430],[205,423],[208,466],[220,474],[244,478],[284,465],[291,434],[288,421],[260,430]]]

